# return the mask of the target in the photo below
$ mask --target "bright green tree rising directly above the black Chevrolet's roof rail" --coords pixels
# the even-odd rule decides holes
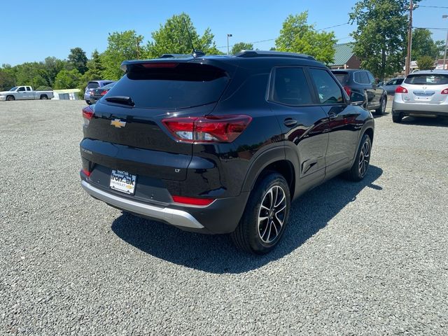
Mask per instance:
[[[289,15],[283,22],[280,36],[275,40],[276,50],[300,52],[329,64],[335,58],[335,33],[318,32],[307,23],[308,12]]]

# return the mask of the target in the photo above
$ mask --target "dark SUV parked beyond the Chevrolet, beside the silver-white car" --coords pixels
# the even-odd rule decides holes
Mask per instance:
[[[351,101],[364,100],[363,107],[374,110],[376,114],[383,115],[386,111],[387,92],[378,85],[372,73],[367,70],[345,69],[332,70],[339,83],[349,94]],[[358,97],[361,97],[360,99]]]

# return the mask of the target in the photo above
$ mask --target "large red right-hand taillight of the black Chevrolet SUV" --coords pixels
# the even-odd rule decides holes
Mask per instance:
[[[183,142],[232,142],[251,123],[246,115],[168,118],[162,123]]]

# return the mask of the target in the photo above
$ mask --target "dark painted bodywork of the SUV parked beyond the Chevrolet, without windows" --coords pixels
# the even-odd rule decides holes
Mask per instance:
[[[358,97],[365,97],[367,100],[366,109],[374,110],[381,106],[381,99],[387,96],[386,90],[381,85],[378,85],[377,81],[370,71],[362,69],[344,69],[344,70],[332,70],[332,73],[341,74],[346,73],[346,81],[342,83],[343,86],[348,86],[351,89],[351,99],[358,100]],[[369,83],[358,83],[355,80],[355,73],[362,74],[369,79]]]

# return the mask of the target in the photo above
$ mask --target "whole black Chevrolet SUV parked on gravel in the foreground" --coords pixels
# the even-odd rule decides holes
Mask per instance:
[[[281,239],[298,196],[367,172],[372,115],[313,57],[164,55],[122,69],[83,109],[80,143],[82,186],[112,207],[231,233],[261,254]]]

